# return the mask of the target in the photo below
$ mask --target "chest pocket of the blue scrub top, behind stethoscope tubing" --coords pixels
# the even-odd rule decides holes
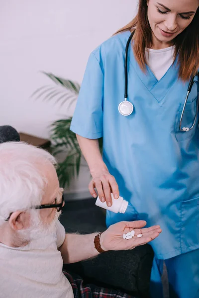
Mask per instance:
[[[183,119],[182,119],[182,125],[181,125],[182,128],[183,127],[191,128],[194,123],[194,119],[195,119],[196,112],[197,112],[196,111],[197,97],[194,99],[193,102],[186,104],[185,111],[183,114]],[[191,129],[189,132],[180,131],[179,125],[180,125],[181,114],[183,111],[183,106],[184,106],[184,103],[180,104],[178,115],[177,115],[177,124],[176,124],[176,139],[177,139],[177,141],[184,141],[184,140],[191,139],[194,136],[196,129],[198,129],[198,120],[197,120],[194,128]]]

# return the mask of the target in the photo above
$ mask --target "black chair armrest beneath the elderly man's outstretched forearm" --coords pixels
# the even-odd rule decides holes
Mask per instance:
[[[137,298],[149,298],[153,250],[143,245],[128,251],[109,251],[91,260],[64,265],[67,272],[80,275],[85,283],[120,289]]]

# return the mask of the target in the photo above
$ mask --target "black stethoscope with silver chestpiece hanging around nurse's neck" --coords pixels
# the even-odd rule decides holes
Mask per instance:
[[[134,109],[133,104],[130,101],[128,101],[128,67],[127,67],[127,64],[128,64],[128,48],[129,48],[129,44],[131,42],[131,39],[132,39],[133,35],[134,35],[134,31],[131,33],[130,37],[128,38],[128,41],[126,43],[126,48],[125,48],[125,57],[124,57],[124,101],[120,102],[120,104],[118,106],[119,113],[122,116],[131,115],[132,112],[133,112],[133,109]],[[196,115],[195,115],[194,122],[193,122],[192,126],[190,128],[189,127],[183,127],[182,128],[183,115],[184,115],[185,107],[186,107],[186,104],[187,104],[187,101],[188,101],[188,98],[189,98],[189,94],[192,91],[192,87],[193,87],[194,83],[199,82],[199,80],[194,80],[197,75],[199,76],[199,73],[192,75],[189,86],[188,86],[188,89],[187,89],[187,96],[186,96],[186,99],[185,99],[185,103],[184,103],[183,110],[182,110],[182,113],[181,113],[180,124],[179,124],[179,129],[182,132],[190,131],[191,129],[194,128],[194,126],[196,124],[196,120],[197,120],[197,116],[198,116],[198,109],[199,109],[199,98],[197,99],[197,110],[196,110]]]

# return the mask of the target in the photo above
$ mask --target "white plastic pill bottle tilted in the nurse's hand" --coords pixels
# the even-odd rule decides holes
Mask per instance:
[[[119,197],[118,199],[115,199],[113,197],[113,194],[111,193],[111,199],[112,199],[112,206],[108,207],[106,205],[106,202],[101,202],[100,198],[98,197],[96,201],[96,206],[99,206],[101,208],[104,208],[106,210],[112,211],[114,213],[125,213],[126,209],[128,207],[128,202],[125,201],[122,197]]]

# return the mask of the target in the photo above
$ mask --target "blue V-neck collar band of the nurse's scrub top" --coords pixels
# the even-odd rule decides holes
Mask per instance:
[[[163,77],[158,80],[149,66],[146,66],[146,71],[143,72],[133,54],[132,45],[129,46],[128,57],[130,60],[131,66],[134,68],[136,74],[149,90],[149,92],[155,97],[158,102],[161,102],[170,88],[178,80],[179,67],[177,65],[177,59],[170,66],[168,71],[163,75]],[[130,71],[130,70],[129,70]]]

